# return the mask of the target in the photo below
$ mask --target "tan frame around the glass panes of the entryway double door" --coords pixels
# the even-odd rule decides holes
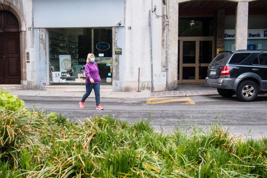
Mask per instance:
[[[179,58],[179,81],[178,83],[203,83],[204,79],[199,79],[199,41],[212,41],[212,58],[215,55],[215,40],[214,37],[179,37],[180,41],[180,58]],[[196,58],[194,64],[183,64],[183,42],[196,42]],[[210,63],[201,63],[201,67],[207,67]],[[195,67],[195,79],[183,79],[183,67]]]

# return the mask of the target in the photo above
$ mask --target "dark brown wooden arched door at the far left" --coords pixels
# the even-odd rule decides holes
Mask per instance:
[[[20,84],[19,23],[9,11],[0,11],[0,84]]]

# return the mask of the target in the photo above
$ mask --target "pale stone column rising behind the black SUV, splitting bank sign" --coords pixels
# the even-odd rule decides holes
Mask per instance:
[[[248,39],[248,2],[239,2],[236,6],[235,22],[235,50],[247,49]]]

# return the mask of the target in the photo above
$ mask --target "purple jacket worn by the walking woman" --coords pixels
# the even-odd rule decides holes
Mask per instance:
[[[101,81],[98,66],[96,63],[86,63],[85,65],[85,82],[91,83],[90,78],[93,78],[95,80],[95,83],[99,83]]]

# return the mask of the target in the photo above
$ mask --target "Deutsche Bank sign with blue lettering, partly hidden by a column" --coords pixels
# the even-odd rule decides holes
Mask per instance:
[[[225,29],[224,39],[235,39],[235,30]],[[267,29],[248,29],[248,39],[267,39]]]

